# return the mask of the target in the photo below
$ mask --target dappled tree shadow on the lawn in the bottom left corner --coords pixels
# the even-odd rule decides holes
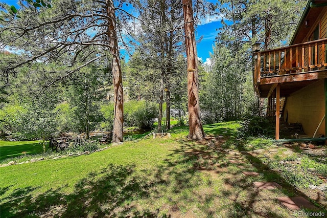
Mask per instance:
[[[70,194],[58,188],[33,197],[37,188],[16,189],[1,205],[1,217],[157,217],[158,210],[129,204],[146,197],[151,185],[135,175],[134,167],[110,164],[80,180]]]

